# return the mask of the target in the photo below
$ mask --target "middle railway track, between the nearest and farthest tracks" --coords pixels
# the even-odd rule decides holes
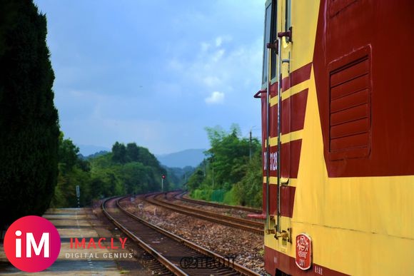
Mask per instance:
[[[185,215],[191,215],[196,218],[201,218],[203,220],[212,221],[213,223],[220,223],[223,225],[231,226],[233,228],[239,228],[239,229],[246,230],[249,232],[254,232],[254,233],[264,235],[264,231],[263,231],[264,224],[263,223],[253,221],[253,220],[246,220],[245,218],[235,218],[235,217],[230,217],[228,215],[211,213],[205,210],[200,210],[198,208],[190,208],[187,206],[178,205],[178,204],[171,203],[165,200],[160,200],[159,196],[161,195],[165,195],[165,194],[163,193],[150,194],[150,195],[146,195],[145,199],[149,203],[161,206],[163,208],[167,208],[169,210],[173,210],[178,213],[183,213]]]

